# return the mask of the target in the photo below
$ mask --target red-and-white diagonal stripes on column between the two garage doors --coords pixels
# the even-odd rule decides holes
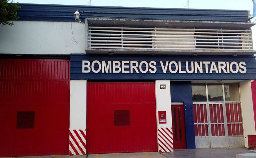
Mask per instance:
[[[86,154],[86,130],[69,130],[69,155]]]

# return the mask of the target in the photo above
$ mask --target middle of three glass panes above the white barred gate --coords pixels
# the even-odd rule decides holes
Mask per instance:
[[[208,100],[223,101],[222,83],[207,83]]]

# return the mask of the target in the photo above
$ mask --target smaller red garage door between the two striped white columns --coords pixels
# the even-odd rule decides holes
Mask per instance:
[[[155,84],[88,82],[86,151],[157,151]]]

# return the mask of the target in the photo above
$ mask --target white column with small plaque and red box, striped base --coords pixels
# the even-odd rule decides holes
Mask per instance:
[[[166,85],[166,89],[160,89],[160,85]],[[156,80],[155,86],[158,127],[158,149],[159,152],[173,152],[170,81]],[[159,124],[159,111],[166,112],[166,124]]]

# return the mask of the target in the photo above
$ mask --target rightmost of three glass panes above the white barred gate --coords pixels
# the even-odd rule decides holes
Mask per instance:
[[[225,101],[240,101],[238,83],[224,83]]]

